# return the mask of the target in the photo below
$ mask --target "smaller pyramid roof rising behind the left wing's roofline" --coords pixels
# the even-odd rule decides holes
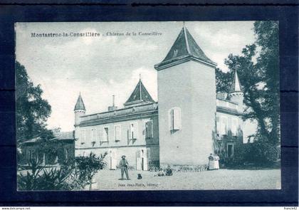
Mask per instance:
[[[150,93],[147,92],[147,89],[145,88],[145,85],[143,85],[141,79],[137,83],[134,91],[130,95],[130,98],[125,102],[125,106],[127,105],[135,105],[137,103],[145,103],[150,102],[154,103],[154,100],[152,100],[152,97],[150,96]]]

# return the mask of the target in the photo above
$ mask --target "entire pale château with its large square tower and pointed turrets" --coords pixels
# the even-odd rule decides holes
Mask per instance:
[[[137,170],[206,164],[220,149],[233,157],[237,139],[243,139],[243,92],[235,72],[230,92],[216,94],[215,67],[184,26],[164,60],[154,65],[158,102],[142,80],[121,109],[112,105],[86,115],[79,95],[75,155],[107,152],[109,169],[125,155]]]

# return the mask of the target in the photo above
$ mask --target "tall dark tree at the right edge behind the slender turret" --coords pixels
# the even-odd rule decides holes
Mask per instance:
[[[246,105],[245,119],[257,120],[256,138],[271,145],[280,142],[278,22],[256,21],[256,42],[243,48],[241,56],[232,54],[225,63],[229,73],[216,70],[217,90],[227,91],[232,73],[238,72]],[[258,50],[257,50],[258,48]],[[256,62],[254,60],[256,59]]]

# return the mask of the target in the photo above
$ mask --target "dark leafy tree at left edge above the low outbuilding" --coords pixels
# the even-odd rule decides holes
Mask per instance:
[[[46,120],[51,114],[51,105],[41,95],[41,85],[34,86],[26,68],[18,61],[16,69],[16,140],[20,142],[33,137],[53,138],[51,130],[46,129]]]

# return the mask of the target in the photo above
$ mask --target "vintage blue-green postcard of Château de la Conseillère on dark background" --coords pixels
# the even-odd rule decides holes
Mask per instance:
[[[15,33],[19,191],[281,188],[278,21]]]

